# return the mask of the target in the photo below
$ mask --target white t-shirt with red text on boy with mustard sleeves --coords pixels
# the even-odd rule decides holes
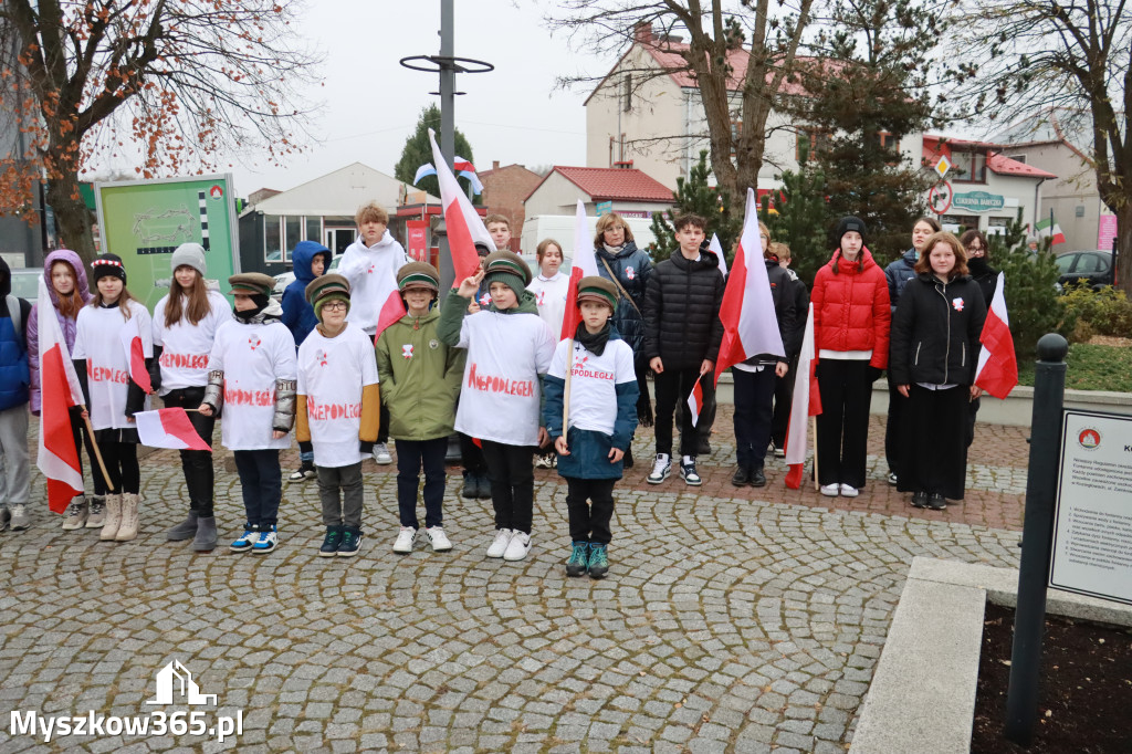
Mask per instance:
[[[335,337],[318,328],[299,346],[299,395],[307,396],[307,422],[315,464],[353,465],[362,460],[361,391],[377,384],[377,358],[369,335],[346,324]]]

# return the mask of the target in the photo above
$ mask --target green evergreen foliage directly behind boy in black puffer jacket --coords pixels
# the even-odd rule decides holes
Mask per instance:
[[[684,214],[696,214],[707,221],[706,235],[719,235],[719,242],[727,255],[727,263],[735,257],[731,247],[743,232],[743,204],[732,200],[730,191],[709,186],[707,151],[700,153],[700,160],[692,166],[687,180],[676,179],[674,205],[668,212],[652,213],[652,233],[657,241],[649,247],[653,262],[667,259],[679,245],[672,220]]]

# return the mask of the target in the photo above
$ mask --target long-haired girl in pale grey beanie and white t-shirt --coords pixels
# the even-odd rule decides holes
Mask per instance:
[[[208,354],[216,328],[232,318],[228,300],[205,284],[205,249],[182,243],[171,259],[173,279],[169,295],[153,309],[154,379],[166,408],[188,409],[189,421],[200,438],[212,445],[215,417],[197,406],[208,384]],[[213,516],[213,457],[208,451],[181,451],[181,470],[189,492],[189,516],[166,532],[170,541],[192,540],[192,549],[216,547]]]

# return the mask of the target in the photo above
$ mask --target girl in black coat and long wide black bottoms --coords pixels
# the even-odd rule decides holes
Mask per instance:
[[[951,233],[928,239],[916,272],[897,306],[889,360],[909,399],[898,489],[911,491],[918,508],[942,511],[947,498],[963,499],[968,402],[981,393],[972,383],[987,308]]]

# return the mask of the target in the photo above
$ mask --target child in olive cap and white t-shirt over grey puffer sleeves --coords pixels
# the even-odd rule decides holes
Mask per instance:
[[[228,283],[234,317],[216,328],[200,413],[218,417],[223,411],[221,438],[240,474],[248,521],[229,549],[263,555],[278,543],[280,451],[291,446],[294,426],[294,337],[280,322],[280,305],[271,299],[274,279],[243,273]]]

